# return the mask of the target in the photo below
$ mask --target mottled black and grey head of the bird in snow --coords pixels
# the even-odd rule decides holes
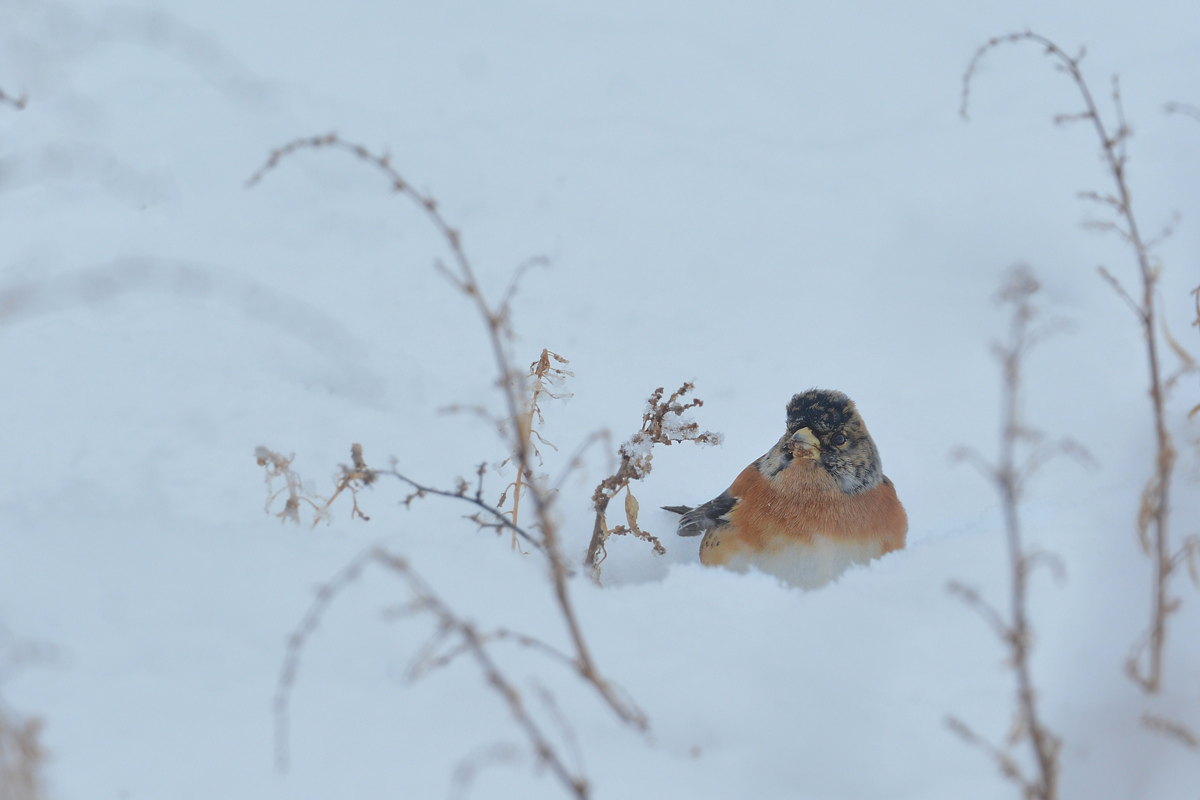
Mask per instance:
[[[854,402],[841,392],[810,389],[792,397],[782,443],[811,453],[846,494],[875,488],[883,480],[880,451]]]

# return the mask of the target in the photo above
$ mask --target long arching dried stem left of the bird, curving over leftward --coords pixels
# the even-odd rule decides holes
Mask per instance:
[[[509,353],[509,345],[511,343],[510,303],[515,293],[516,279],[520,278],[522,270],[517,271],[517,276],[502,296],[500,302],[493,306],[484,295],[470,259],[467,258],[467,253],[462,247],[461,234],[456,228],[451,227],[442,216],[440,211],[438,211],[437,201],[432,197],[424,194],[413,187],[412,184],[409,184],[391,166],[389,156],[376,155],[360,144],[341,139],[336,133],[296,139],[287,145],[283,145],[282,148],[276,149],[271,152],[266,163],[250,178],[247,185],[252,186],[260,181],[268,172],[278,166],[282,158],[293,155],[296,151],[319,150],[326,148],[348,152],[360,161],[364,161],[378,169],[388,178],[392,191],[409,198],[418,206],[418,209],[425,213],[438,233],[442,234],[442,237],[445,240],[446,246],[450,249],[454,266],[448,267],[438,263],[438,267],[455,285],[455,288],[462,291],[474,303],[475,309],[484,320],[488,347],[499,375],[499,387],[504,396],[506,419],[511,422],[511,425],[505,426],[504,429],[508,432],[508,445],[512,457],[512,463],[518,475],[523,473],[532,473],[532,445],[528,438],[522,435],[520,425],[521,415],[524,411],[520,389],[521,381],[517,379],[517,374],[512,369],[512,359]],[[601,698],[604,698],[604,700],[620,720],[644,730],[647,728],[646,716],[637,709],[636,705],[617,696],[614,688],[600,674],[600,670],[598,669],[592,656],[592,651],[588,648],[587,640],[583,637],[583,631],[580,627],[578,619],[575,614],[575,607],[571,602],[570,590],[568,587],[570,572],[566,567],[566,560],[562,552],[558,522],[551,512],[551,495],[550,493],[540,489],[535,483],[528,485],[528,494],[536,517],[536,528],[541,534],[541,548],[550,560],[550,577],[553,584],[554,599],[558,603],[559,610],[562,612],[563,621],[574,645],[578,672],[595,687]],[[464,495],[457,497],[460,499],[467,499]]]

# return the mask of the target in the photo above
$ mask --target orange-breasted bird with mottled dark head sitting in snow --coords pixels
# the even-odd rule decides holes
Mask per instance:
[[[730,488],[683,515],[680,536],[700,536],[700,560],[756,567],[817,589],[856,564],[901,549],[908,533],[895,486],[853,401],[811,389],[787,403],[787,428]]]

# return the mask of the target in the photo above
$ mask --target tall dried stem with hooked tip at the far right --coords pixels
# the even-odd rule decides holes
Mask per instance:
[[[1062,48],[1044,36],[1033,31],[1024,31],[1000,36],[990,40],[978,49],[962,80],[962,107],[961,113],[966,116],[967,100],[970,97],[971,79],[980,59],[991,49],[1016,42],[1031,42],[1042,47],[1046,55],[1055,61],[1055,66],[1070,77],[1084,101],[1084,110],[1078,114],[1061,115],[1056,121],[1090,121],[1100,142],[1100,152],[1109,175],[1112,179],[1112,193],[1085,192],[1081,194],[1087,200],[1097,203],[1112,211],[1117,221],[1103,223],[1097,227],[1115,231],[1123,239],[1134,252],[1138,263],[1138,272],[1141,279],[1141,297],[1126,291],[1121,283],[1100,267],[1104,279],[1112,285],[1117,294],[1124,299],[1138,321],[1141,324],[1142,336],[1146,342],[1146,362],[1150,371],[1150,397],[1154,413],[1154,471],[1142,492],[1141,510],[1138,517],[1138,533],[1147,554],[1151,555],[1153,565],[1152,585],[1152,612],[1151,625],[1146,638],[1145,667],[1141,664],[1142,648],[1134,648],[1127,662],[1127,672],[1147,692],[1158,692],[1163,681],[1163,649],[1166,640],[1166,619],[1176,609],[1177,602],[1170,596],[1169,578],[1175,566],[1175,554],[1172,553],[1168,521],[1170,510],[1171,473],[1175,465],[1175,447],[1171,443],[1170,433],[1166,429],[1165,390],[1163,386],[1162,367],[1158,353],[1158,313],[1156,303],[1156,288],[1158,285],[1159,270],[1152,264],[1150,251],[1153,242],[1147,241],[1139,229],[1138,219],[1134,215],[1130,191],[1127,180],[1126,142],[1129,138],[1130,128],[1124,121],[1123,107],[1121,103],[1120,84],[1116,78],[1112,80],[1112,102],[1116,108],[1117,126],[1110,132],[1104,124],[1092,91],[1084,79],[1079,64],[1084,58],[1081,50],[1078,56],[1068,55]]]

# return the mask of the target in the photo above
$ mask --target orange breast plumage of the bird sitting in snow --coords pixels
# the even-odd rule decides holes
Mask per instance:
[[[845,494],[811,459],[793,461],[774,480],[751,464],[733,481],[730,494],[739,501],[728,525],[706,534],[700,547],[703,564],[727,564],[781,548],[794,552],[818,539],[862,546],[878,557],[902,548],[908,531],[908,517],[890,481]]]

